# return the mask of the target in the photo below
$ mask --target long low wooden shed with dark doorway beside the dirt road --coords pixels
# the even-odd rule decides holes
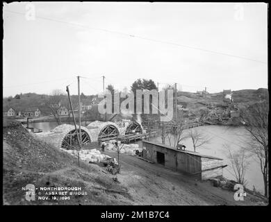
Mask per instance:
[[[177,150],[172,146],[154,142],[142,142],[143,158],[163,166],[208,180],[223,175],[223,160],[192,151]]]

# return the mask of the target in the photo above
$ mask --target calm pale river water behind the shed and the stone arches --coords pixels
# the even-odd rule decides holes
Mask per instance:
[[[86,125],[88,125],[88,123],[83,121],[82,126]],[[56,122],[41,122],[29,123],[29,126],[40,128],[46,132],[55,128],[58,124]],[[201,148],[197,148],[197,152],[222,158],[224,160],[224,164],[228,164],[228,167],[223,169],[223,175],[226,178],[234,180],[233,169],[231,169],[231,164],[227,157],[227,148],[230,148],[231,151],[237,151],[242,148],[246,135],[245,128],[233,126],[199,126],[192,130],[195,129],[206,135],[206,137],[211,137],[211,142]],[[188,130],[184,130],[184,133],[187,132]],[[171,144],[174,144],[173,137],[171,140]],[[161,143],[161,137],[151,138],[151,141]],[[168,139],[166,139],[165,143],[169,144]],[[186,145],[186,150],[193,151],[191,139],[185,139],[182,144]],[[258,160],[255,157],[249,158],[249,167],[245,173],[245,180],[247,180],[247,187],[249,189],[253,189],[253,186],[255,186],[257,191],[261,191],[261,193],[263,193],[263,176]]]

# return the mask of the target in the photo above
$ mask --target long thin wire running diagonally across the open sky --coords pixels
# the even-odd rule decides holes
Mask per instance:
[[[15,12],[15,11],[10,11],[10,10],[3,10],[3,11],[4,12],[15,13],[15,14],[19,14],[19,15],[25,15],[25,13],[23,13],[23,12]],[[202,48],[195,47],[195,46],[187,46],[187,45],[184,45],[184,44],[177,44],[177,43],[174,43],[174,42],[167,42],[167,41],[163,41],[163,40],[154,40],[154,39],[151,39],[151,38],[148,38],[148,37],[141,37],[139,35],[131,35],[131,34],[128,34],[128,33],[122,33],[122,32],[118,32],[118,31],[110,31],[110,30],[105,29],[105,28],[94,28],[94,27],[85,26],[85,25],[82,25],[82,24],[75,24],[75,23],[72,23],[72,22],[64,22],[64,21],[60,21],[60,20],[57,20],[57,19],[51,19],[51,18],[48,18],[48,17],[40,17],[40,16],[35,16],[35,17],[38,18],[38,19],[44,19],[44,20],[48,20],[48,21],[51,21],[51,22],[69,24],[69,25],[72,25],[72,26],[79,26],[79,27],[82,27],[82,28],[89,28],[89,29],[97,30],[97,31],[104,31],[104,32],[108,32],[108,33],[115,33],[115,34],[119,34],[119,35],[125,35],[125,36],[128,36],[128,37],[135,37],[135,38],[138,38],[138,39],[147,40],[147,41],[151,41],[151,42],[159,42],[159,43],[164,43],[164,44],[170,44],[170,45],[173,45],[173,46],[179,46],[179,47],[183,47],[183,48],[194,49],[194,50],[204,51],[204,52],[208,52],[208,53],[214,53],[214,54],[218,54],[218,55],[222,55],[222,56],[229,56],[229,57],[233,57],[233,58],[239,58],[239,59],[243,59],[243,60],[249,60],[249,61],[252,61],[252,62],[259,62],[259,63],[267,64],[267,62],[263,62],[261,60],[254,60],[252,58],[246,58],[246,57],[243,57],[243,56],[235,56],[233,54],[222,53],[222,52],[219,52],[219,51],[213,51],[213,50],[209,50],[209,49],[202,49]]]

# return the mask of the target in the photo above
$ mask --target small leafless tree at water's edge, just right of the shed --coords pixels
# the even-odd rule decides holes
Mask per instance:
[[[229,158],[231,169],[236,177],[236,182],[245,185],[245,172],[249,166],[249,155],[243,148],[234,152],[231,151],[229,145],[224,145],[224,148],[227,148],[227,157]]]

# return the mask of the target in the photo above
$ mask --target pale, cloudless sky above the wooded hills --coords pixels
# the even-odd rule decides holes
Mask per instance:
[[[266,3],[3,3],[3,96],[138,78],[208,92],[268,87]]]

